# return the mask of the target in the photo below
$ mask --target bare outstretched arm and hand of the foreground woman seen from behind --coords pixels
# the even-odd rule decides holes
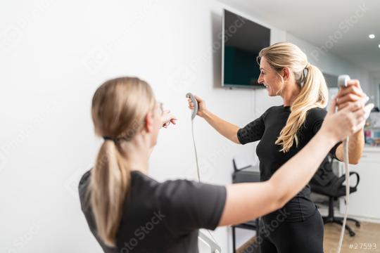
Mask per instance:
[[[283,207],[310,181],[329,150],[364,126],[373,108],[373,104],[366,107],[364,104],[364,100],[360,100],[335,113],[335,103],[331,103],[318,133],[269,181],[226,186],[227,198],[218,226],[256,219]]]

